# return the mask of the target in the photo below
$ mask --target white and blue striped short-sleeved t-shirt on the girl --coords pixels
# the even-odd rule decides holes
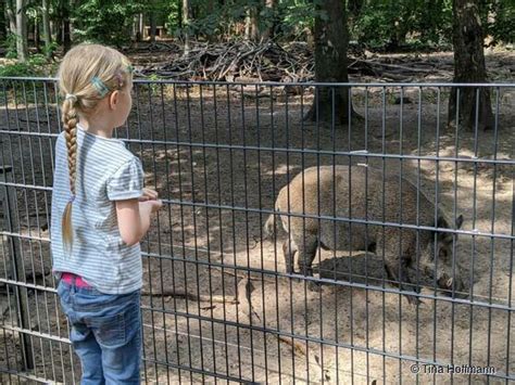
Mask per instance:
[[[142,195],[140,161],[118,139],[102,138],[77,125],[76,197],[72,208],[71,254],[62,243],[61,221],[71,197],[64,132],[55,143],[55,171],[50,228],[53,271],[78,274],[98,291],[125,294],[141,288],[139,243],[121,238],[114,201]]]

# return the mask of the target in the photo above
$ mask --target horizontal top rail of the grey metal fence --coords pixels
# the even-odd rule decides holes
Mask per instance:
[[[58,81],[54,77],[21,77],[21,76],[0,76],[0,80],[16,80],[16,81]],[[134,79],[137,84],[175,84],[175,85],[210,85],[210,86],[304,86],[304,87],[364,87],[364,88],[380,88],[380,87],[499,87],[499,88],[515,88],[515,82],[321,82],[321,81],[222,81],[222,80],[177,80],[177,79]]]

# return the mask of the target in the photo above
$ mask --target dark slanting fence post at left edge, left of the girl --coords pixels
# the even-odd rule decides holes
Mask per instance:
[[[7,226],[7,231],[13,233],[15,229],[20,227],[16,223],[16,216],[13,213],[16,210],[16,190],[10,188],[9,183],[12,179],[12,166],[0,166],[0,180],[4,189],[0,189],[0,195],[2,201],[3,219]],[[9,273],[12,274],[12,279],[17,283],[22,283],[22,279],[25,281],[23,258],[20,247],[20,241],[15,240],[14,236],[8,235],[9,255],[11,256],[11,262]],[[9,285],[8,285],[9,290]],[[28,292],[27,287],[21,285],[14,285],[14,296],[16,298],[17,307],[17,325],[21,329],[29,329],[28,320]],[[22,346],[22,365],[23,370],[34,369],[34,359],[32,355],[30,337],[27,333],[20,332],[20,342]]]

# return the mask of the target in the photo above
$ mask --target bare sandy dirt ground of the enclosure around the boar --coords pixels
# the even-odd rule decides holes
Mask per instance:
[[[142,298],[145,380],[488,382],[483,375],[428,374],[429,367],[420,367],[417,376],[411,368],[417,360],[493,367],[501,376],[513,376],[510,239],[461,235],[456,271],[467,282],[467,298],[462,303],[426,298],[413,306],[391,293],[394,287],[388,282],[385,287],[390,292],[377,291],[384,284],[384,269],[380,256],[370,254],[322,252],[315,259],[315,277],[334,283],[326,281],[319,292],[310,291],[305,281],[285,273],[280,247],[285,234],[264,239],[262,226],[278,191],[303,168],[367,163],[385,167],[386,172],[402,167],[403,177],[419,183],[430,200],[436,201],[438,193],[449,217],[463,214],[463,230],[513,236],[513,165],[467,161],[514,158],[515,88],[500,90],[499,124],[486,132],[447,127],[448,89],[429,87],[420,92],[407,87],[404,97],[411,103],[402,105],[401,119],[401,105],[395,104],[399,88],[354,88],[353,104],[362,118],[350,126],[303,121],[313,95],[307,88],[302,95],[298,92],[225,85],[136,88],[128,126],[118,136],[128,138],[129,149],[143,161],[147,185],[153,185],[166,203],[141,245],[145,291],[152,294]],[[37,94],[28,108],[17,106],[17,115],[12,100],[2,107],[0,121],[9,121],[9,129],[39,134],[3,132],[2,162],[15,165],[15,183],[51,187],[54,141],[40,132],[59,132],[58,117],[52,88],[37,88]],[[457,156],[463,162],[334,155],[363,150]],[[17,198],[20,232],[41,238],[22,241],[27,282],[51,287],[45,226],[50,220],[50,194],[45,189],[20,189]],[[5,240],[2,246],[0,277],[5,278]],[[365,290],[365,284],[372,287]],[[430,283],[423,285],[423,294],[434,294]],[[13,293],[0,290],[3,324],[14,325]],[[28,304],[35,332],[34,374],[77,381],[78,361],[60,339],[66,338],[67,326],[55,296],[29,290]],[[46,339],[48,335],[59,337]],[[0,367],[8,362],[15,367],[20,339],[12,329],[3,330],[0,350],[7,351]]]

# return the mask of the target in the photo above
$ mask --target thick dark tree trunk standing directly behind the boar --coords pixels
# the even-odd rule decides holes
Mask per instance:
[[[319,1],[315,11],[315,79],[318,82],[349,82],[347,74],[346,8],[341,0]],[[317,87],[306,120],[347,124],[354,114],[347,87]]]

